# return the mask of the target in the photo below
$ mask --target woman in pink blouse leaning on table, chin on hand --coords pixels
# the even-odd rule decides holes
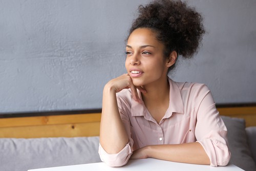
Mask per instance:
[[[167,76],[179,56],[197,52],[200,14],[168,0],[140,6],[139,13],[127,38],[127,74],[103,90],[101,160],[110,166],[147,157],[227,165],[227,130],[208,88]]]

